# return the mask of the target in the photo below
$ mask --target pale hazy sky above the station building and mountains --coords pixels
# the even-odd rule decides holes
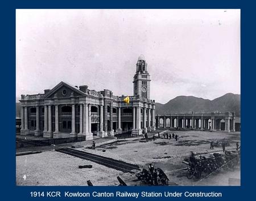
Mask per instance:
[[[240,94],[240,10],[16,10],[16,97],[61,81],[133,95],[143,54],[151,99]]]

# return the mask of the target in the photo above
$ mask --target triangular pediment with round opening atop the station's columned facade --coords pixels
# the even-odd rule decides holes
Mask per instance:
[[[85,93],[80,91],[79,88],[74,87],[68,83],[65,82],[60,82],[59,84],[57,84],[55,87],[53,87],[51,89],[51,91],[49,91],[45,98],[46,99],[51,99],[53,97],[57,97],[57,98],[65,98],[65,97],[71,97],[71,95],[73,97],[76,96],[84,96]]]

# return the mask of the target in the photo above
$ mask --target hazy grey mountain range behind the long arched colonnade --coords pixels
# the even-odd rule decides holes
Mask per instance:
[[[202,99],[195,96],[177,96],[166,104],[156,102],[156,114],[167,113],[210,113],[235,112],[240,117],[241,95],[226,93],[214,100]]]

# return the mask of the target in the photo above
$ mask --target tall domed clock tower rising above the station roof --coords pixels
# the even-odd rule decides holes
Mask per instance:
[[[147,63],[144,55],[140,55],[136,64],[137,70],[133,77],[133,94],[150,99],[150,74],[147,72]]]

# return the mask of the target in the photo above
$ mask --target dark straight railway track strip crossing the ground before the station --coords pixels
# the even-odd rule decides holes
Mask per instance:
[[[61,148],[56,149],[56,151],[61,153],[66,153],[71,156],[79,157],[80,159],[89,160],[92,162],[96,162],[97,164],[107,166],[109,168],[113,168],[122,172],[130,172],[134,173],[132,170],[137,169],[140,170],[138,165],[130,164],[124,161],[119,161],[115,159],[111,159],[105,156],[99,156],[93,153],[83,152],[76,149],[71,148]]]

